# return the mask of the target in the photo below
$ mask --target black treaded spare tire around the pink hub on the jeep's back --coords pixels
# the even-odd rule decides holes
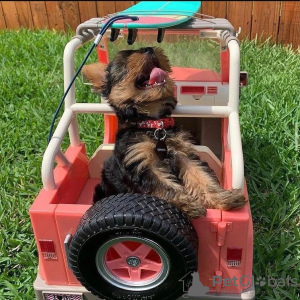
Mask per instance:
[[[147,240],[168,258],[168,274],[143,290],[111,283],[96,264],[98,249],[114,239]],[[101,299],[175,300],[197,271],[197,233],[173,204],[141,194],[119,194],[96,202],[83,215],[69,247],[70,267],[81,284]],[[98,251],[98,252],[97,252]]]

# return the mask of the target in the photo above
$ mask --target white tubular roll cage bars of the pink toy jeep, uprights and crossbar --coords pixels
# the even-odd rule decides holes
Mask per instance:
[[[92,39],[85,37],[85,41]],[[74,76],[74,56],[77,48],[84,43],[82,39],[75,37],[65,47],[64,51],[64,88],[67,89]],[[174,117],[228,117],[229,135],[228,144],[232,157],[232,187],[243,188],[244,186],[244,161],[239,125],[239,74],[240,74],[240,49],[236,40],[228,43],[230,53],[229,69],[229,101],[228,106],[177,106]],[[61,153],[61,143],[69,130],[71,146],[79,146],[80,137],[78,130],[77,113],[102,113],[114,114],[113,109],[107,104],[98,103],[75,103],[75,84],[65,99],[65,111],[58,126],[48,144],[42,162],[42,181],[46,190],[54,190],[54,161],[57,157],[65,165],[68,161]]]

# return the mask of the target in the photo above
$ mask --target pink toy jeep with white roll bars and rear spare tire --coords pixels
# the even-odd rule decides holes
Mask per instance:
[[[66,45],[65,88],[74,75],[76,49],[93,40],[100,21],[79,25]],[[179,102],[176,122],[193,134],[199,157],[223,187],[243,188],[247,196],[238,113],[241,78],[247,74],[240,72],[232,25],[225,19],[193,18],[165,28],[161,44],[153,42],[157,30],[141,28],[132,46],[126,45],[128,29],[114,42],[110,33],[98,47],[102,62],[124,47],[147,44],[165,50]],[[91,158],[80,141],[78,113],[104,114],[104,142]],[[73,85],[44,154],[43,188],[30,208],[39,253],[37,299],[254,299],[249,204],[237,211],[209,209],[206,217],[191,221],[151,196],[116,195],[92,205],[117,127],[105,99],[76,103]],[[67,131],[70,145],[63,153]]]

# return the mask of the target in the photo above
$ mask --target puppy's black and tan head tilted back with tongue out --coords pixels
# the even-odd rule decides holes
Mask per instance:
[[[107,66],[87,65],[82,72],[122,122],[165,117],[177,104],[170,63],[160,48],[120,51]]]

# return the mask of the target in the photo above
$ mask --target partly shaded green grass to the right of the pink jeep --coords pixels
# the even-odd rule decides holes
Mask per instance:
[[[250,84],[241,96],[245,174],[254,220],[254,275],[297,278],[258,299],[299,299],[300,56],[266,42],[242,44]]]

